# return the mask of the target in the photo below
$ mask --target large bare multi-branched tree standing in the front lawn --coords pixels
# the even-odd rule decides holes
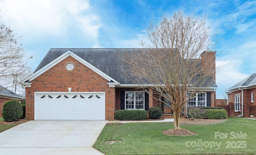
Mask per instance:
[[[175,129],[180,129],[186,102],[215,83],[215,69],[211,69],[215,64],[202,67],[199,59],[212,45],[210,30],[206,18],[178,12],[147,29],[148,41],[140,42],[143,53],[124,53],[122,57],[124,71],[131,79],[149,94],[151,89],[170,101]]]

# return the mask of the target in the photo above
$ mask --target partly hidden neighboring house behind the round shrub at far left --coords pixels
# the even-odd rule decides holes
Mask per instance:
[[[5,102],[10,100],[17,100],[20,102],[22,99],[24,99],[24,97],[16,94],[15,92],[12,92],[3,86],[0,86],[0,117],[2,117],[2,111]]]

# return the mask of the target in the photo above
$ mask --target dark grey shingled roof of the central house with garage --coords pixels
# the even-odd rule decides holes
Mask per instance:
[[[135,51],[145,51],[145,49],[50,49],[34,73],[69,50],[109,77],[120,82],[120,84],[135,84],[130,78],[127,77],[124,71],[122,71],[122,60],[120,59],[120,55],[122,55],[124,52],[132,53]],[[212,83],[211,86],[217,87],[215,82]]]

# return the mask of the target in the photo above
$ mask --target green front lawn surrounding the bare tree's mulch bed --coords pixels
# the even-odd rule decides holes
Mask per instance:
[[[163,135],[162,131],[174,128],[170,122],[106,125],[93,147],[106,155],[255,154],[256,152],[256,120],[229,118],[219,124],[181,127],[196,132],[196,135]],[[216,132],[228,136],[226,139],[220,137],[215,139]],[[236,138],[241,138],[238,137],[240,132],[247,137],[232,139],[234,136],[231,132],[237,135]],[[105,143],[114,140],[121,142]],[[203,142],[203,146],[193,147],[199,141]],[[208,143],[212,145],[211,148]],[[217,147],[216,143],[220,147]]]

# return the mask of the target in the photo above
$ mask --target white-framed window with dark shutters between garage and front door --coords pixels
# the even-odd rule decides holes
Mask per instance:
[[[144,110],[145,93],[142,91],[125,92],[125,109]]]

